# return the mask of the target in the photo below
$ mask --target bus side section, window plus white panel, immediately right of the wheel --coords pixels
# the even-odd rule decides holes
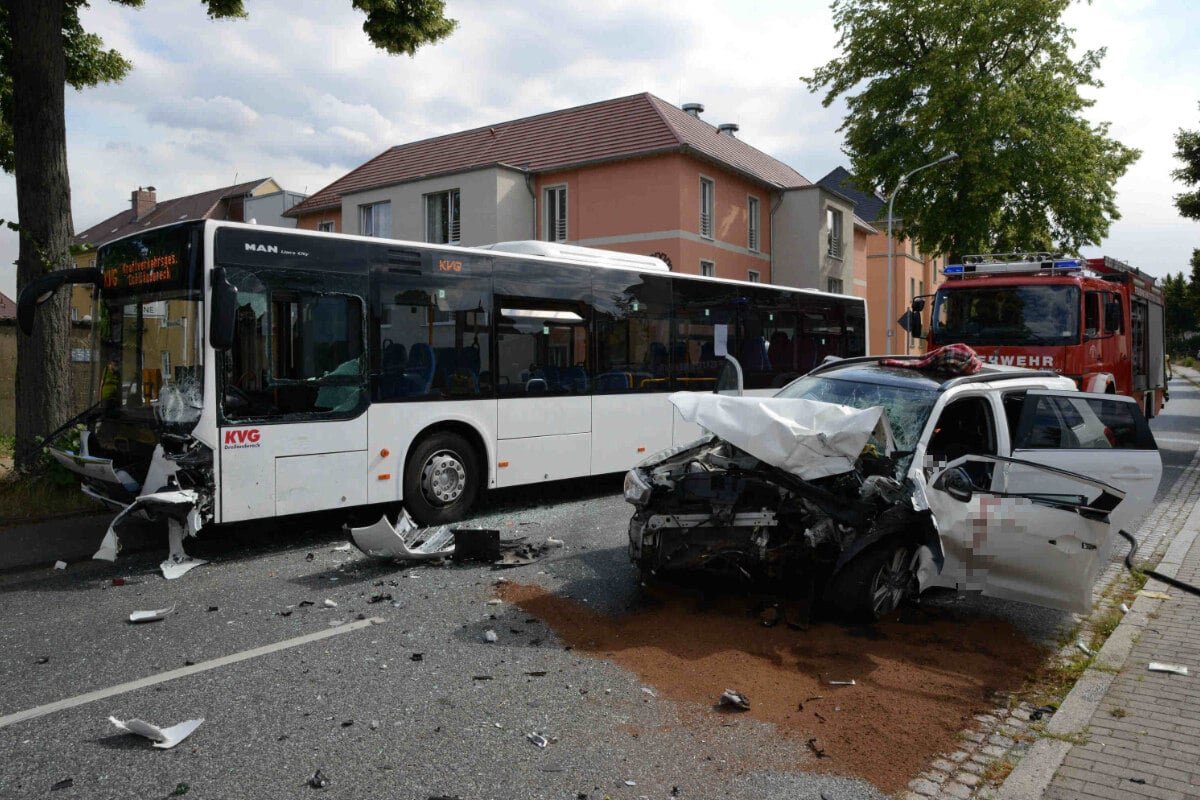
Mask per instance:
[[[592,273],[496,260],[497,486],[592,469]]]

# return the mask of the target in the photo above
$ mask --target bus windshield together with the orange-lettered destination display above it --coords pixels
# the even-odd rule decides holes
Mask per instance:
[[[186,432],[200,419],[203,293],[187,227],[101,248],[92,383],[107,417]]]

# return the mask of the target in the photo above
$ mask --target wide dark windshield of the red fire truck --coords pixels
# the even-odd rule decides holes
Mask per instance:
[[[930,333],[938,344],[1046,345],[1079,343],[1079,287],[943,285]]]

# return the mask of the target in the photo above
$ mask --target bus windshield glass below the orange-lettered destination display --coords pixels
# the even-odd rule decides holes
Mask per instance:
[[[106,415],[180,432],[194,427],[203,398],[202,320],[203,305],[190,293],[102,300],[92,381]]]

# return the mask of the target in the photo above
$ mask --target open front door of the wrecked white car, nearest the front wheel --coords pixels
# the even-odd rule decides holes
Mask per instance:
[[[946,555],[937,584],[1084,613],[1126,495],[1078,473],[973,455],[936,474],[926,498]]]

